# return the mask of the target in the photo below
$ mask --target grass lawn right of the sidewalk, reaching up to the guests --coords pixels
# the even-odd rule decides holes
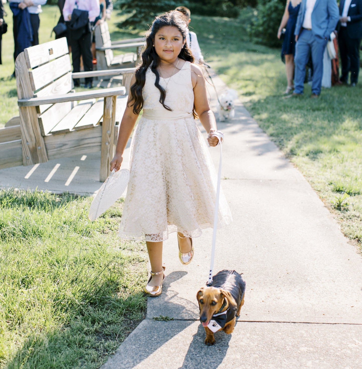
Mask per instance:
[[[286,87],[280,49],[255,45],[239,19],[192,16],[207,61],[238,91],[261,128],[303,173],[346,236],[362,242],[362,85],[322,89],[318,100],[283,99]],[[341,197],[346,193],[348,199]],[[337,205],[336,205],[337,204]]]

